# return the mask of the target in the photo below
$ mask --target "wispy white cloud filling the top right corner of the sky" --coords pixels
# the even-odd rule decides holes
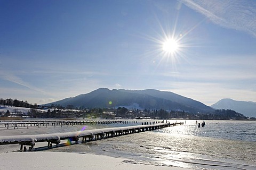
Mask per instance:
[[[180,0],[221,27],[241,30],[256,37],[256,3],[244,0]]]

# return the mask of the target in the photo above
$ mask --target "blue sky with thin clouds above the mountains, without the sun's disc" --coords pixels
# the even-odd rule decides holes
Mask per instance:
[[[105,87],[256,102],[254,1],[0,0],[0,25],[0,98]]]

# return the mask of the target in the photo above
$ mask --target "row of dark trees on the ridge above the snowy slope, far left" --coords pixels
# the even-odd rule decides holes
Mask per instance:
[[[13,107],[26,107],[26,108],[37,108],[37,104],[29,104],[27,101],[20,101],[17,99],[0,99],[0,105],[13,106]]]

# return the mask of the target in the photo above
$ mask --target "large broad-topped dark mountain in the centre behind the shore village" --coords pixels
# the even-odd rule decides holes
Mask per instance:
[[[111,102],[110,102],[111,101]],[[185,111],[190,113],[210,113],[214,109],[204,105],[203,103],[183,97],[173,92],[159,91],[159,90],[124,90],[100,88],[88,94],[78,95],[72,98],[66,98],[56,101],[49,105],[73,105],[74,107],[85,108],[110,108],[126,106],[132,108],[138,106],[146,109],[165,109],[173,111]]]

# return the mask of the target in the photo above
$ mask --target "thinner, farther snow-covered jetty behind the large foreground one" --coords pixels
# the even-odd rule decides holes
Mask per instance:
[[[85,125],[85,124],[118,124],[124,121],[92,121],[92,120],[67,120],[67,121],[0,121],[0,128],[19,128],[29,126],[63,126],[63,125]]]

